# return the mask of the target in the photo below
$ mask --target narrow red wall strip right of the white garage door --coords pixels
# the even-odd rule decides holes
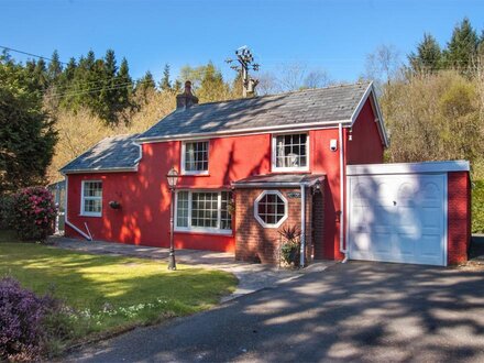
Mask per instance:
[[[448,264],[468,261],[471,242],[471,182],[468,172],[448,173]]]

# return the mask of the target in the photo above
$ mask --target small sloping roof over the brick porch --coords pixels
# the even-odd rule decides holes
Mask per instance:
[[[326,179],[324,174],[265,174],[253,175],[232,183],[234,188],[251,187],[299,187],[314,185],[316,182]]]

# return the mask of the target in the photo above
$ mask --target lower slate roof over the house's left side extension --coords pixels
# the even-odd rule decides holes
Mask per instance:
[[[76,157],[61,169],[61,173],[81,173],[96,170],[136,169],[140,146],[135,141],[140,134],[107,138]]]

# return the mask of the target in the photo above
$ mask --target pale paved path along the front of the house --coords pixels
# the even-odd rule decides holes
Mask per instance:
[[[142,245],[122,244],[102,241],[86,241],[67,239],[64,237],[52,237],[48,242],[57,248],[96,254],[110,254],[132,256],[141,258],[154,258],[167,261],[168,249],[150,248]],[[324,271],[328,266],[336,264],[334,261],[317,262],[307,268],[289,271],[277,268],[271,265],[250,264],[237,262],[232,253],[210,252],[198,250],[177,250],[176,262],[189,266],[202,266],[230,272],[239,279],[237,290],[222,298],[227,301],[245,294],[274,287],[283,282],[290,280],[311,272]]]

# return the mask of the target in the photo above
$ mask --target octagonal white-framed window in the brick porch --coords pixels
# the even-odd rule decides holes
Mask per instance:
[[[287,199],[277,190],[264,190],[254,202],[255,219],[264,228],[277,228],[287,219]]]

